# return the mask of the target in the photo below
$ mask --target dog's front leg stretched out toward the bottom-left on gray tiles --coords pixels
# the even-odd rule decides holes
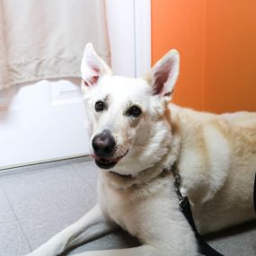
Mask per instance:
[[[117,225],[106,219],[100,205],[97,204],[73,225],[67,226],[27,256],[56,256],[68,248],[92,241],[116,228]]]

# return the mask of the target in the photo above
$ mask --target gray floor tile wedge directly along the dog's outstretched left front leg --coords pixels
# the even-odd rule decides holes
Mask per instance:
[[[92,200],[92,203],[93,200]],[[62,211],[52,211],[50,215],[33,216],[21,220],[22,230],[27,237],[32,250],[45,243],[51,236],[71,225],[91,208],[78,207]]]

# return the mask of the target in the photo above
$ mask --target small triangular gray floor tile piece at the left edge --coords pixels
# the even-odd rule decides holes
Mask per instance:
[[[0,224],[3,222],[9,222],[16,220],[13,209],[10,206],[8,199],[4,193],[4,189],[2,188],[0,182]]]

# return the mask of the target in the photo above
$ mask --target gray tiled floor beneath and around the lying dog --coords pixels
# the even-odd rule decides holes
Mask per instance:
[[[97,172],[94,163],[78,162],[42,164],[0,176],[0,256],[31,252],[93,207]],[[217,236],[210,243],[225,255],[256,255],[256,226]],[[119,232],[67,255],[135,244],[128,234]]]

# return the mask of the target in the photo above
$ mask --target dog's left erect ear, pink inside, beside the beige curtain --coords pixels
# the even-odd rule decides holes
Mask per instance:
[[[96,84],[103,75],[111,74],[110,67],[95,52],[92,43],[86,44],[84,48],[81,73],[86,86]]]

